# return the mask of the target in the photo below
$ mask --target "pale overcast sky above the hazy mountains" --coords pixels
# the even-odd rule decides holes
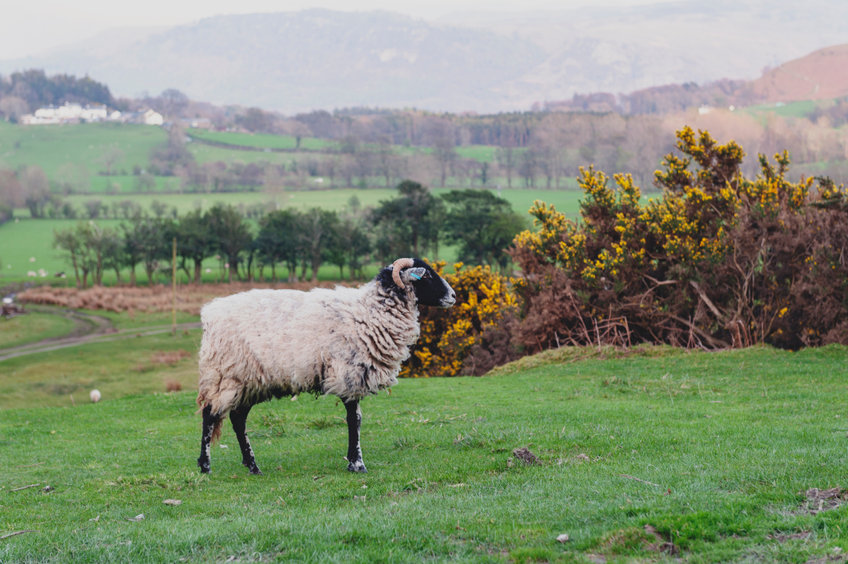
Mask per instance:
[[[172,26],[222,14],[329,8],[390,10],[425,19],[455,11],[633,5],[669,0],[13,0],[0,11],[0,59],[17,59],[87,39],[109,28]]]

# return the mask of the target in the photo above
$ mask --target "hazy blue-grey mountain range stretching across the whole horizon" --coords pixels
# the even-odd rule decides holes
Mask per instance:
[[[289,114],[357,106],[523,111],[575,93],[755,79],[848,43],[846,21],[843,0],[674,0],[435,21],[313,9],[115,30],[0,61],[0,73],[42,68],[88,75],[117,96],[175,88],[195,100]]]

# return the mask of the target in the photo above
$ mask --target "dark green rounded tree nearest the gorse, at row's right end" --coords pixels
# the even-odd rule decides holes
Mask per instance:
[[[524,227],[509,202],[488,190],[451,190],[442,199],[447,203],[443,229],[447,241],[459,245],[459,259],[505,268],[504,250]]]

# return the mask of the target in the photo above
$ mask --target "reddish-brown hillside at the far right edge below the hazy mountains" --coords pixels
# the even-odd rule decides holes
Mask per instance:
[[[848,96],[848,44],[820,49],[771,69],[751,84],[751,90],[766,102]]]

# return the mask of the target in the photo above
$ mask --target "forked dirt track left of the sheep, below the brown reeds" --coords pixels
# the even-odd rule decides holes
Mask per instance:
[[[67,336],[64,337],[44,339],[34,343],[27,343],[26,345],[0,349],[0,362],[28,354],[55,351],[57,349],[76,347],[88,343],[106,343],[121,339],[160,335],[162,333],[169,333],[173,330],[172,325],[156,325],[136,329],[122,329],[118,331],[115,329],[115,325],[109,318],[101,317],[99,315],[74,310],[57,311],[55,308],[39,308],[37,306],[29,306],[28,309],[30,311],[64,315],[74,322],[74,328]],[[178,323],[176,328],[177,331],[184,331],[186,329],[197,329],[199,327],[200,323],[198,322]]]

